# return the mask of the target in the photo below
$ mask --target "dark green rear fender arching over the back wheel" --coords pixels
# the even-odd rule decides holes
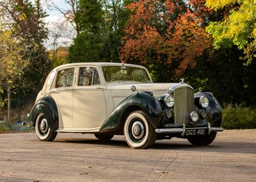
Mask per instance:
[[[45,115],[49,127],[53,131],[58,130],[58,109],[51,96],[44,96],[36,101],[28,116],[28,126],[35,126],[36,117],[40,112]]]

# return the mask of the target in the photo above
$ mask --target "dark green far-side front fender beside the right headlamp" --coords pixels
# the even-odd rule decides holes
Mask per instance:
[[[200,96],[207,96],[209,105],[205,111],[207,112],[207,123],[211,123],[211,126],[220,127],[222,123],[222,109],[218,100],[212,95],[212,93],[199,92],[195,93],[195,98]],[[196,105],[199,108],[198,105]]]

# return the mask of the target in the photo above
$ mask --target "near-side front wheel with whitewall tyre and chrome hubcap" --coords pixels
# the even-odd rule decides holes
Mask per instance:
[[[134,149],[147,149],[157,138],[148,116],[141,110],[129,114],[124,125],[124,135],[127,144]]]

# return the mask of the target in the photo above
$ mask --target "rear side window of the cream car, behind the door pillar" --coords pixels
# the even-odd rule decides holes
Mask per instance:
[[[57,73],[56,88],[58,87],[70,87],[74,82],[74,70],[75,68],[68,68],[66,70],[60,70]]]

